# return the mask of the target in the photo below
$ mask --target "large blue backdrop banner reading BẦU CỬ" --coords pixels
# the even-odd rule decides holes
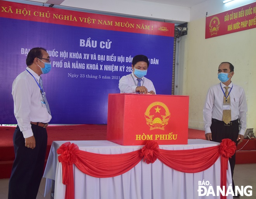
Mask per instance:
[[[26,56],[34,47],[46,48],[52,60],[52,70],[42,75],[51,124],[106,124],[108,94],[120,93],[119,79],[131,73],[131,60],[138,54],[149,58],[146,77],[153,82],[156,93],[171,94],[173,36],[14,17],[0,17],[0,26],[1,124],[17,123],[12,82],[26,69]]]

